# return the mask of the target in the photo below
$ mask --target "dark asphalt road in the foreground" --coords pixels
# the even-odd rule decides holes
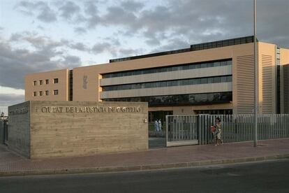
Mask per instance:
[[[289,192],[289,160],[145,172],[0,178],[0,192]]]

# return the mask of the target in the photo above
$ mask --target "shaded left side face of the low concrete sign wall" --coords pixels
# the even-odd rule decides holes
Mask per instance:
[[[8,148],[30,157],[30,101],[8,107]]]

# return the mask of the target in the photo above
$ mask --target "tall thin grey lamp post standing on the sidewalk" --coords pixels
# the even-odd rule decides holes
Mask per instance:
[[[254,66],[255,66],[255,103],[254,103],[254,113],[255,113],[255,129],[254,129],[254,147],[258,145],[258,53],[257,53],[257,27],[256,27],[256,0],[254,0]]]

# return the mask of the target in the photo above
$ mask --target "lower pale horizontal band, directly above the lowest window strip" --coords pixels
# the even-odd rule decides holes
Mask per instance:
[[[176,87],[155,87],[135,90],[117,90],[101,92],[101,99],[112,99],[134,96],[161,96],[168,94],[198,94],[207,92],[230,92],[232,83],[211,83],[200,85],[184,85]]]

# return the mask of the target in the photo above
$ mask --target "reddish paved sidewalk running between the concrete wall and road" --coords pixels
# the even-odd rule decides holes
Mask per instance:
[[[142,171],[289,158],[289,138],[224,145],[191,145],[145,152],[50,159],[26,159],[0,145],[0,176]]]

